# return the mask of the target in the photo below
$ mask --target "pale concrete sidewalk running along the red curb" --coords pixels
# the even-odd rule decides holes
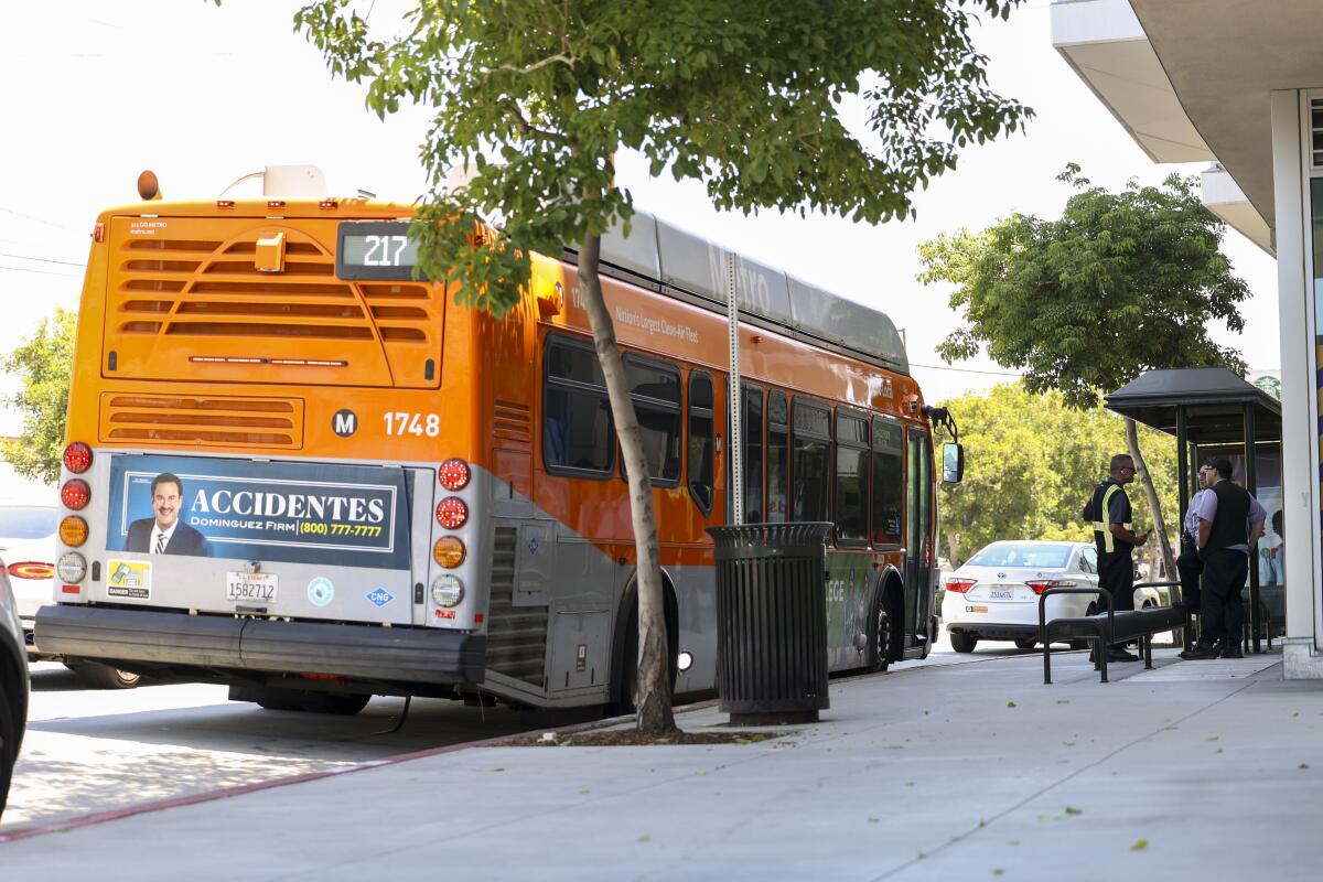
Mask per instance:
[[[1323,688],[1156,655],[860,677],[742,746],[475,747],[4,844],[0,877],[1316,878]]]

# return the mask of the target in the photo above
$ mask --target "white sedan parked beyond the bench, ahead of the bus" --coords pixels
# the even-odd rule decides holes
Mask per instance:
[[[1091,542],[994,542],[946,579],[942,621],[951,648],[974,652],[979,640],[1011,640],[1021,649],[1039,641],[1039,596],[1056,587],[1097,587],[1098,553]],[[1156,588],[1136,588],[1135,608],[1159,606]],[[1093,615],[1097,595],[1048,598],[1048,620]]]

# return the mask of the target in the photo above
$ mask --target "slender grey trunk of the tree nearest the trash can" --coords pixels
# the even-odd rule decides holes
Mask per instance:
[[[671,664],[667,653],[665,600],[662,590],[662,557],[658,550],[656,516],[652,512],[652,481],[643,455],[643,432],[630,399],[624,365],[615,342],[615,324],[602,296],[597,274],[602,237],[585,235],[579,249],[578,283],[583,308],[593,327],[597,360],[606,378],[611,399],[615,432],[620,439],[624,471],[630,479],[630,516],[634,524],[634,546],[638,551],[635,581],[639,596],[639,680],[622,684],[634,689],[638,730],[647,734],[676,731],[671,713]]]

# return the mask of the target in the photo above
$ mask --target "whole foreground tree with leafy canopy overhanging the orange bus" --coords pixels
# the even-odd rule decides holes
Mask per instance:
[[[699,179],[722,209],[912,213],[916,186],[957,149],[1015,130],[1028,108],[992,94],[970,8],[1020,0],[738,4],[669,0],[426,0],[404,36],[377,40],[348,0],[304,7],[295,25],[337,75],[368,83],[378,115],[429,107],[421,159],[430,193],[410,234],[421,267],[495,316],[520,298],[529,253],[578,246],[578,286],[630,476],[638,549],[640,731],[669,731],[665,619],[652,491],[639,424],[598,279],[601,235],[628,229],[615,155],[652,175]],[[864,79],[872,85],[863,85]],[[871,141],[840,118],[860,94]],[[446,192],[455,167],[474,177]],[[479,221],[496,227],[479,227]]]

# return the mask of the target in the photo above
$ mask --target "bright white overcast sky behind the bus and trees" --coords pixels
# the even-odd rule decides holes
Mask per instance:
[[[366,9],[368,3],[360,3]],[[377,0],[389,22],[398,0]],[[298,3],[228,0],[16,4],[0,30],[0,350],[12,349],[57,305],[73,308],[99,210],[136,201],[153,169],[167,198],[213,198],[263,165],[321,167],[336,194],[368,189],[411,201],[423,189],[417,110],[378,122],[363,87],[333,81],[319,53],[292,32]],[[836,218],[717,213],[699,184],[648,180],[620,159],[635,204],[806,280],[888,312],[906,331],[914,374],[929,401],[1008,380],[988,361],[942,365],[933,352],[955,327],[946,292],[925,288],[916,246],[960,226],[980,229],[1019,210],[1060,213],[1054,181],[1068,161],[1094,182],[1159,181],[1199,165],[1154,165],[1050,46],[1048,3],[1031,0],[979,29],[992,87],[1037,111],[1027,134],[962,153],[959,167],[917,198],[917,221],[880,227]],[[1246,329],[1218,339],[1253,369],[1278,365],[1275,268],[1229,231],[1225,250],[1254,296]],[[61,263],[65,262],[65,263]],[[74,266],[70,266],[74,264]],[[978,373],[988,372],[988,373]],[[0,377],[0,391],[13,380]],[[0,413],[0,434],[17,430]]]

